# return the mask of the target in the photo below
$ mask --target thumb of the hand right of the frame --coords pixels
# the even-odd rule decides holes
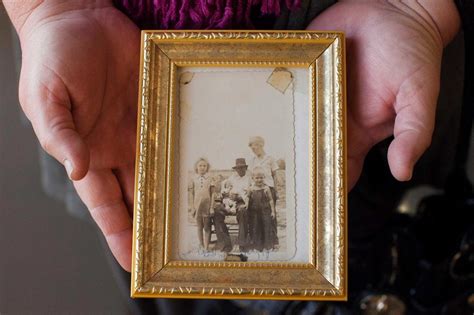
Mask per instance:
[[[411,179],[415,163],[431,144],[438,92],[439,73],[420,73],[406,81],[397,95],[388,163],[400,181]]]

